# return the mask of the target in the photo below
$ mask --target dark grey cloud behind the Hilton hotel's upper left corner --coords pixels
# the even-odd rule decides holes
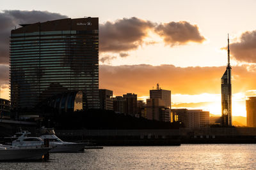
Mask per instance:
[[[9,36],[12,29],[19,27],[19,24],[33,24],[60,18],[67,18],[67,16],[48,11],[4,10],[0,12],[0,64],[9,62]]]

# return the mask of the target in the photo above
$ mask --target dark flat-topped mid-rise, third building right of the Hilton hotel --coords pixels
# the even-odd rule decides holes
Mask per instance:
[[[127,93],[123,95],[125,101],[125,115],[136,116],[137,114],[137,94]]]

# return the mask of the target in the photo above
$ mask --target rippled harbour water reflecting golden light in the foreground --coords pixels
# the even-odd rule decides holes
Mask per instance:
[[[49,162],[0,162],[0,169],[256,169],[256,145],[113,146],[52,153]]]

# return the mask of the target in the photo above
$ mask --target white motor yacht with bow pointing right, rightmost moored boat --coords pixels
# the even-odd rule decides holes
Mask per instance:
[[[49,146],[53,146],[50,152],[83,152],[84,147],[89,143],[72,143],[67,141],[62,141],[58,138],[51,128],[41,129],[41,139],[49,139]]]

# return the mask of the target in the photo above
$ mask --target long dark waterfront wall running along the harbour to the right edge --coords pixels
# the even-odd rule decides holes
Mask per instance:
[[[256,128],[180,128],[132,130],[56,130],[68,141],[98,145],[177,145],[178,143],[256,143]]]

